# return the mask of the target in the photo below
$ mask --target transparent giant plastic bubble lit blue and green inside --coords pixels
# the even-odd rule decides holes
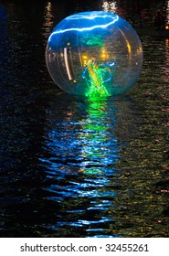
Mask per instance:
[[[128,91],[143,65],[140,38],[112,13],[93,11],[68,16],[48,37],[46,62],[64,91],[106,97]]]

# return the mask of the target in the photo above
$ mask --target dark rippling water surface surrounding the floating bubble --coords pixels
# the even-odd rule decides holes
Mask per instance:
[[[48,35],[72,13],[130,5],[69,2],[0,4],[0,236],[168,237],[169,39],[141,37],[131,91],[82,101],[49,77]]]

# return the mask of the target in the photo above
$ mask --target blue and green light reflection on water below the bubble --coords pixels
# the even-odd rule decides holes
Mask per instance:
[[[44,224],[48,229],[83,227],[100,234],[104,229],[100,224],[112,221],[107,212],[114,208],[116,192],[111,179],[119,150],[114,135],[115,111],[111,105],[111,114],[107,112],[107,103],[84,103],[86,111],[79,120],[73,108],[64,113],[48,112],[46,154],[40,161],[49,181],[44,188],[49,192],[46,199],[59,203],[61,208],[56,211],[55,224]],[[75,110],[80,105],[77,102]]]

